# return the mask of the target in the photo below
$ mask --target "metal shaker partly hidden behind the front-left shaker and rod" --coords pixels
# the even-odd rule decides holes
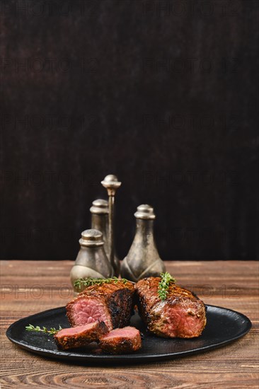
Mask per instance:
[[[94,200],[92,203],[91,211],[91,226],[103,233],[104,250],[108,258],[110,258],[110,241],[109,241],[109,207],[108,201],[103,199]],[[114,254],[115,262],[115,276],[120,274],[120,260]]]

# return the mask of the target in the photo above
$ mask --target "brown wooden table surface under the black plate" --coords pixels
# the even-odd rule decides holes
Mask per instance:
[[[247,315],[252,330],[238,341],[181,359],[97,366],[45,359],[12,344],[11,323],[72,297],[70,261],[1,261],[1,388],[257,388],[258,262],[166,262],[178,284],[205,303]]]

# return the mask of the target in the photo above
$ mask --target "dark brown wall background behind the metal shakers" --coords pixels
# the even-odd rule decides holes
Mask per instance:
[[[1,258],[71,259],[115,173],[117,252],[254,260],[258,1],[1,1]]]

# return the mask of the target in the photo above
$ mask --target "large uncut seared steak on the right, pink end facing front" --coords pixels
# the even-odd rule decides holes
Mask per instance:
[[[139,315],[148,330],[161,337],[198,337],[206,324],[205,304],[173,283],[161,301],[157,294],[160,281],[160,277],[149,277],[135,285]]]

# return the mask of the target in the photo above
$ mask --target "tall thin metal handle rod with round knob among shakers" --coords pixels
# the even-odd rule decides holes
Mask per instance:
[[[113,233],[113,216],[114,216],[114,202],[115,202],[115,193],[116,190],[122,185],[120,181],[117,180],[116,175],[109,174],[106,175],[105,179],[101,182],[103,187],[107,189],[109,196],[109,244],[110,244],[110,264],[113,269],[116,269],[115,260],[114,260],[114,233]],[[120,272],[120,270],[119,270]],[[118,274],[118,273],[117,273]]]

